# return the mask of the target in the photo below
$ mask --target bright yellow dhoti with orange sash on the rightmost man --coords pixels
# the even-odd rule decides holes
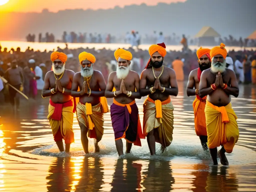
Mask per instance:
[[[231,153],[239,137],[237,116],[231,103],[217,107],[206,101],[205,119],[209,148],[223,145],[226,152]]]

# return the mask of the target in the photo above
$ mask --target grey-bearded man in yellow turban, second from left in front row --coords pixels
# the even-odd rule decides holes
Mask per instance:
[[[98,142],[103,136],[103,113],[108,112],[104,97],[106,82],[100,71],[93,70],[95,57],[87,52],[79,54],[81,72],[74,75],[72,83],[72,96],[79,97],[76,105],[77,121],[81,129],[81,142],[84,152],[88,151],[88,138],[94,138],[94,152],[99,152]],[[77,91],[79,87],[79,90]],[[103,99],[104,100],[104,99]]]

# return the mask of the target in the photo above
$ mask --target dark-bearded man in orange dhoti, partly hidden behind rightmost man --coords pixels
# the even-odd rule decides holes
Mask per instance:
[[[204,98],[200,98],[198,94],[198,88],[202,71],[211,67],[210,49],[202,49],[202,47],[200,47],[200,49],[197,50],[196,55],[199,59],[199,68],[194,69],[189,73],[187,95],[196,95],[196,99],[193,102],[193,109],[195,115],[195,131],[196,135],[200,138],[204,151],[208,151],[207,131],[205,123],[206,96]]]

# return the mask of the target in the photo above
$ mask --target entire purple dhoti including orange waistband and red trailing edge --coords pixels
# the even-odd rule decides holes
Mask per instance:
[[[135,100],[129,104],[121,104],[116,100],[113,101],[113,104],[110,106],[110,115],[115,140],[125,138],[127,142],[141,146],[140,139],[144,137],[138,114]]]

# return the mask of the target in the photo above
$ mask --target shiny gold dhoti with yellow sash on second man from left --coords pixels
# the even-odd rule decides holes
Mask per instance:
[[[101,102],[95,106],[92,106],[91,103],[78,102],[76,106],[77,121],[87,127],[88,137],[95,138],[97,141],[101,140],[104,132],[103,112]]]

